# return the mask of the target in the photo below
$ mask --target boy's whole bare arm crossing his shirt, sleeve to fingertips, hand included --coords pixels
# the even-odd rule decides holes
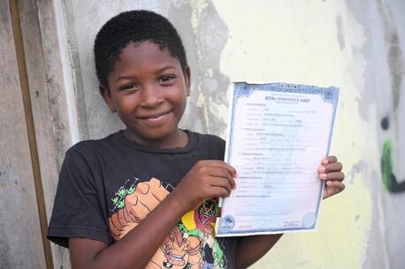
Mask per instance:
[[[235,176],[234,168],[223,161],[198,161],[172,193],[121,240],[108,246],[88,238],[70,238],[73,269],[145,268],[183,214],[206,199],[229,196]]]

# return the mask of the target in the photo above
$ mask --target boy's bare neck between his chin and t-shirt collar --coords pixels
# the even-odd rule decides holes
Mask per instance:
[[[135,136],[134,133],[128,129],[123,131],[124,136],[131,141],[134,141],[142,146],[155,146],[159,148],[175,148],[185,147],[188,143],[188,135],[186,131],[178,129],[175,133],[172,133],[170,137],[163,139],[150,140]]]

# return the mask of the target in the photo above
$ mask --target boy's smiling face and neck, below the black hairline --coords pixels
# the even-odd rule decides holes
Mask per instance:
[[[179,146],[178,124],[189,95],[190,72],[167,49],[129,43],[108,75],[104,100],[126,124],[126,137],[149,146]],[[181,143],[180,143],[181,144]]]

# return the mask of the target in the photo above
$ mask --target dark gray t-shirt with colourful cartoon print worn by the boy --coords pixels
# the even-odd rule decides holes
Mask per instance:
[[[124,237],[195,162],[223,160],[223,139],[187,134],[187,146],[181,148],[141,146],[126,139],[122,131],[73,146],[59,176],[48,238],[67,247],[69,237],[107,244]],[[233,268],[238,239],[213,236],[218,213],[217,199],[186,213],[150,263],[161,268]]]

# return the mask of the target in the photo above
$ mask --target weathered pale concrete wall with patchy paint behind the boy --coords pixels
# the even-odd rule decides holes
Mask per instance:
[[[317,232],[283,236],[252,267],[403,268],[405,2],[59,0],[53,5],[73,143],[122,128],[98,95],[92,56],[96,32],[120,11],[157,11],[178,28],[192,70],[184,128],[225,137],[231,81],[340,87],[332,153],[345,165],[347,190],[325,200]],[[54,259],[63,259],[64,252],[57,251]]]

